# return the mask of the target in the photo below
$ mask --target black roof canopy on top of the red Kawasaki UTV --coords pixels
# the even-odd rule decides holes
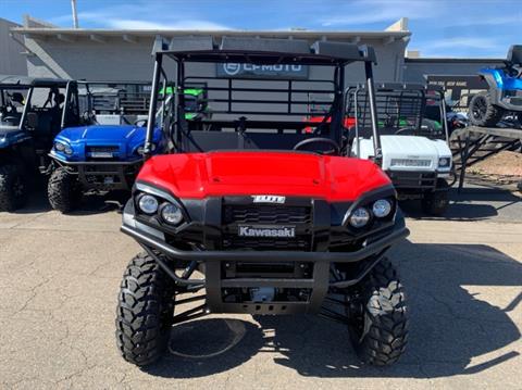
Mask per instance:
[[[376,62],[373,48],[347,42],[302,39],[211,36],[157,37],[153,54],[162,53],[183,62],[237,62],[254,64],[345,65],[350,62]]]

